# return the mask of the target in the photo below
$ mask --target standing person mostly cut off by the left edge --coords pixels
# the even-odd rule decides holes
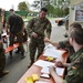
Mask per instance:
[[[4,55],[4,49],[3,49],[2,38],[1,38],[3,17],[4,14],[1,14],[1,9],[0,9],[0,77],[9,73],[9,71],[3,71],[6,65],[6,55]]]

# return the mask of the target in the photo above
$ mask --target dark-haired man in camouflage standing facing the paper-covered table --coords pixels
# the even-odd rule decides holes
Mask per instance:
[[[29,44],[31,64],[34,62],[34,54],[37,48],[38,48],[38,56],[37,56],[38,59],[42,54],[44,49],[43,39],[45,37],[50,38],[51,35],[52,27],[51,22],[45,18],[46,12],[48,12],[46,8],[42,8],[39,17],[31,19],[28,23],[28,33],[31,39]]]

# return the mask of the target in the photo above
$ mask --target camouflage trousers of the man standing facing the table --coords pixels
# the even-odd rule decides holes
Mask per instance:
[[[38,55],[37,59],[42,54],[43,49],[44,49],[44,41],[43,38],[31,38],[30,44],[29,44],[29,50],[30,50],[30,59],[32,62],[34,62],[34,55],[35,51],[38,49]]]

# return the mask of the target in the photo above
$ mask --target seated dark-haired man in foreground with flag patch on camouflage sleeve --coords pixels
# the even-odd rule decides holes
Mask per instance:
[[[54,68],[50,68],[50,73],[55,83],[83,83],[83,29],[79,23],[70,25],[70,44],[75,53],[71,55],[71,63],[55,62],[56,66],[68,66],[68,74],[63,80],[60,77]]]

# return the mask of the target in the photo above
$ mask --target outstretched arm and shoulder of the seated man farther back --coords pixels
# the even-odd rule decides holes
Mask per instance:
[[[52,42],[50,41],[50,39],[45,39],[44,42],[49,42],[51,44],[53,44],[54,46],[56,46],[58,49],[65,49],[66,51],[69,51],[69,59],[68,62],[70,61],[70,56],[75,53],[73,46],[70,44],[69,40],[64,40],[64,41],[60,41],[60,42]]]

